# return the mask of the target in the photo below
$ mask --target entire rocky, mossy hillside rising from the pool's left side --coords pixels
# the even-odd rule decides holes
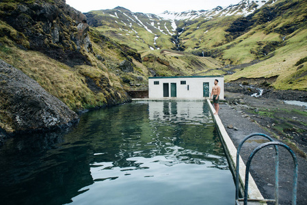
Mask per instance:
[[[140,55],[98,35],[98,54],[108,53],[105,44],[115,51],[99,59],[89,31],[86,17],[65,0],[0,1],[0,146],[10,134],[77,121],[70,109],[131,100],[108,67],[130,55],[142,61]]]

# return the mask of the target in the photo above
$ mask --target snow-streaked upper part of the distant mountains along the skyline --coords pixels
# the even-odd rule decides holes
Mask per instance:
[[[160,38],[163,35],[174,36],[177,34],[177,36],[180,36],[182,29],[185,29],[185,25],[182,25],[183,22],[189,22],[189,21],[193,21],[196,19],[200,19],[200,18],[202,18],[202,20],[210,20],[212,18],[218,18],[221,16],[248,16],[248,14],[252,14],[252,12],[258,10],[259,8],[262,8],[263,5],[272,5],[273,3],[276,3],[276,1],[277,0],[269,0],[269,1],[242,0],[235,5],[228,5],[224,8],[222,8],[221,6],[217,6],[216,8],[213,8],[212,10],[198,10],[198,11],[190,10],[187,12],[165,11],[161,14],[145,14],[142,12],[134,13],[126,8],[118,6],[112,10],[91,11],[91,12],[84,13],[84,14],[85,16],[87,16],[88,23],[90,25],[94,27],[105,26],[105,28],[103,28],[104,30],[107,29],[106,28],[107,26],[109,26],[109,28],[113,27],[114,29],[116,28],[116,26],[118,26],[118,29],[121,29],[122,27],[124,31],[128,31],[128,32],[120,33],[118,35],[135,34],[134,36],[136,40],[138,40],[137,38],[140,38],[140,37],[139,35],[137,35],[138,32],[137,32],[137,29],[135,29],[135,27],[142,27],[142,29],[145,29],[152,35],[155,35],[152,38],[151,45],[148,47],[150,49],[162,49],[163,46],[161,45],[159,46],[159,44],[157,44],[157,38]],[[94,16],[99,16],[100,15],[99,13],[101,12],[104,14],[103,16],[99,17],[101,19],[100,20],[99,18],[95,19]],[[119,18],[120,18],[120,22],[118,21]],[[104,21],[106,25],[103,25],[101,23],[102,21]],[[112,26],[112,21],[116,23],[116,25]],[[135,24],[137,25],[135,26]],[[186,25],[189,25],[189,23],[187,23]],[[176,33],[176,29],[178,29],[177,33]],[[165,37],[162,37],[162,38],[165,39]],[[144,38],[141,38],[139,40],[144,40]],[[174,43],[175,41],[173,40],[172,42]],[[150,43],[148,42],[148,44]],[[171,44],[168,44],[168,49],[170,48],[170,45]],[[179,47],[179,46],[176,45],[175,47]],[[143,46],[143,48],[137,48],[137,49],[146,49],[146,47]]]

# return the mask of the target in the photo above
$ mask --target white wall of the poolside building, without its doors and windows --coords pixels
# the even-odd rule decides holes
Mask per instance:
[[[163,83],[169,84],[169,96],[171,85],[176,83],[176,98],[203,98],[203,83],[209,82],[209,92],[211,93],[214,80],[219,81],[221,87],[220,99],[224,99],[224,77],[174,77],[174,78],[150,78],[148,79],[148,97],[163,98]],[[154,81],[159,81],[159,85],[154,85]],[[181,85],[181,81],[186,81],[186,85]],[[189,90],[187,90],[189,85]]]

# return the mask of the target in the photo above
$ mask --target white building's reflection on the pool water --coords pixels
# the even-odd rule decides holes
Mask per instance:
[[[185,124],[213,122],[209,106],[204,101],[152,101],[148,109],[150,120],[182,120]]]

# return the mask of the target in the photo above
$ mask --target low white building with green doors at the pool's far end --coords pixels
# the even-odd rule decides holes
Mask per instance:
[[[148,98],[209,98],[215,79],[221,87],[219,99],[224,99],[222,76],[149,77]]]

